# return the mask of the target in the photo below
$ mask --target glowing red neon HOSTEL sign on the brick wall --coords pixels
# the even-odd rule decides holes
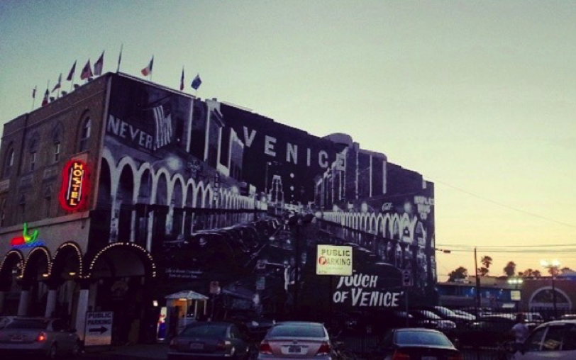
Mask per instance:
[[[81,208],[86,202],[88,190],[86,164],[73,159],[66,164],[62,173],[62,189],[60,189],[60,205],[73,211]]]

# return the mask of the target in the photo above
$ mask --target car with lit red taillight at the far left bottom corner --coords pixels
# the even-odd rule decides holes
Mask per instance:
[[[75,329],[60,319],[46,317],[16,317],[0,330],[0,357],[45,356],[55,359],[60,355],[77,356],[80,342]]]

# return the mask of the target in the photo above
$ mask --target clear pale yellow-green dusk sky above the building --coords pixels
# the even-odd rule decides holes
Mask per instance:
[[[436,243],[576,268],[575,1],[0,1],[0,122],[104,72],[236,103],[436,184]],[[62,89],[70,89],[64,81]],[[555,247],[572,244],[572,247]],[[504,251],[521,252],[504,252]],[[558,251],[561,250],[561,251]],[[438,254],[438,274],[473,253]]]

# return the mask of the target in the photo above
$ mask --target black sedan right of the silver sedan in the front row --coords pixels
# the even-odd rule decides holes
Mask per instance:
[[[375,349],[375,355],[384,360],[464,359],[445,334],[419,327],[389,330],[384,335],[382,344],[378,344]]]

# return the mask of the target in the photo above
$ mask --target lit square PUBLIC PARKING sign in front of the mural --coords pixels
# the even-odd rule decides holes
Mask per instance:
[[[352,276],[352,247],[317,245],[316,275]]]

